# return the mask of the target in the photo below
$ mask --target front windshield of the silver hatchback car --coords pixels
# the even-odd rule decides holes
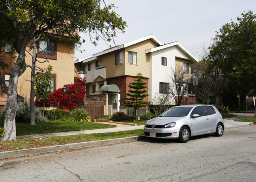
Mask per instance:
[[[189,114],[189,111],[191,111],[193,107],[172,107],[163,114],[160,115],[160,117],[182,117],[187,116]]]

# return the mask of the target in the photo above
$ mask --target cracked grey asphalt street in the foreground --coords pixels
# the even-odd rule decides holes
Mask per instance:
[[[256,179],[256,126],[226,129],[222,137],[188,143],[147,139],[66,153],[1,160],[4,182],[170,182]]]

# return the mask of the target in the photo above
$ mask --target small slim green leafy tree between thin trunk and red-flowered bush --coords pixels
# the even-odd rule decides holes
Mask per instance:
[[[50,98],[50,90],[52,88],[52,77],[50,76],[51,71],[52,66],[49,66],[45,73],[39,73],[35,77],[35,95],[43,101],[43,116],[45,116],[45,101]],[[34,102],[33,105],[35,105]],[[30,121],[30,124],[35,125],[36,123],[34,124]]]

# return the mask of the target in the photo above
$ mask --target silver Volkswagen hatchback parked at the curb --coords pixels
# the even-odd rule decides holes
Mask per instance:
[[[212,105],[181,105],[166,110],[144,126],[144,135],[152,138],[178,138],[189,141],[191,136],[214,133],[222,136],[224,122]]]

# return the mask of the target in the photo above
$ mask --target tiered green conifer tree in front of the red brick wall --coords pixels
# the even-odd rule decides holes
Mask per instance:
[[[138,73],[136,76],[134,76],[138,81],[132,82],[128,87],[131,88],[128,90],[128,93],[126,95],[128,97],[123,97],[125,101],[122,103],[125,107],[132,107],[135,110],[135,122],[137,122],[137,110],[141,107],[146,107],[147,105],[150,104],[150,101],[144,101],[145,97],[149,96],[146,94],[147,88],[146,82],[142,81],[142,76],[141,73]],[[130,93],[129,93],[130,92]]]

